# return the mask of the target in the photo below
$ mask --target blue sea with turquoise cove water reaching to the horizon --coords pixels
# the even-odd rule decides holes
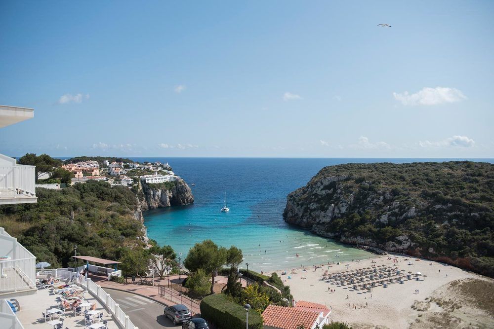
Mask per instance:
[[[244,263],[257,271],[348,261],[370,254],[283,221],[289,192],[305,185],[329,165],[348,162],[415,162],[450,159],[357,158],[132,158],[169,162],[191,186],[195,203],[144,212],[148,236],[186,256],[196,243],[211,239],[235,245]],[[492,159],[479,160],[493,162]],[[226,194],[229,213],[221,213]],[[299,256],[295,256],[298,254]],[[251,265],[250,265],[251,264]],[[245,266],[244,266],[245,267]]]

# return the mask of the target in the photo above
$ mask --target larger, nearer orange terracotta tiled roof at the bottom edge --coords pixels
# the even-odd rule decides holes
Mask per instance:
[[[318,317],[319,313],[315,311],[277,305],[269,305],[262,312],[264,326],[280,329],[296,329],[300,325],[312,328]]]

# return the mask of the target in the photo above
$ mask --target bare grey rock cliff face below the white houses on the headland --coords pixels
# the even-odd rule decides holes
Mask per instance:
[[[141,183],[137,196],[142,211],[194,202],[192,190],[183,180],[159,184]]]

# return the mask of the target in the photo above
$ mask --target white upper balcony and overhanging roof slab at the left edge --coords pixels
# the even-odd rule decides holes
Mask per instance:
[[[0,128],[34,117],[33,109],[0,105]],[[35,203],[36,167],[0,154],[0,205]]]

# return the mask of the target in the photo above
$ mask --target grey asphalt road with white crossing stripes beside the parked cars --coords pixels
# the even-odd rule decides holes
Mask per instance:
[[[165,306],[162,304],[129,292],[112,289],[105,289],[105,291],[112,296],[129,316],[134,326],[139,329],[182,328],[182,325],[174,326],[169,319],[165,318],[163,315]]]

